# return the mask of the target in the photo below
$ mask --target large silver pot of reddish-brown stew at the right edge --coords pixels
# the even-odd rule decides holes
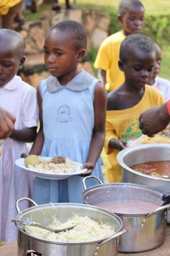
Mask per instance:
[[[117,154],[117,161],[122,166],[122,182],[131,182],[153,187],[158,191],[170,193],[170,179],[148,176],[134,171],[130,166],[150,161],[169,161],[170,144],[146,144],[125,148]],[[167,216],[170,223],[170,211]]]

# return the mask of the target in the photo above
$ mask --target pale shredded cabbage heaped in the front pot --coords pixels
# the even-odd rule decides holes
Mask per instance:
[[[115,233],[115,229],[106,223],[98,223],[91,218],[85,216],[73,216],[65,223],[61,223],[56,218],[48,225],[50,228],[64,228],[66,226],[76,225],[73,229],[68,231],[62,231],[55,233],[40,229],[34,226],[26,226],[25,231],[32,235],[42,239],[54,241],[54,242],[91,242],[94,240],[101,240],[112,236]]]

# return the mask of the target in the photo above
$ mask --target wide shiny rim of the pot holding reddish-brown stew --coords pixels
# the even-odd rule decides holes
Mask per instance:
[[[133,174],[136,174],[138,176],[143,176],[145,178],[153,179],[153,180],[155,179],[157,181],[161,180],[161,181],[164,181],[164,182],[165,181],[170,182],[170,179],[164,179],[164,178],[161,178],[161,177],[150,176],[150,175],[147,175],[147,174],[142,174],[139,171],[135,171],[132,168],[130,168],[129,166],[127,166],[123,161],[125,156],[128,155],[129,153],[132,153],[133,151],[140,150],[140,149],[146,149],[146,148],[162,148],[162,147],[170,148],[170,144],[169,143],[157,143],[157,144],[152,143],[152,144],[137,145],[137,146],[133,146],[131,148],[125,148],[117,154],[117,162],[120,164],[120,166],[122,166],[122,168],[125,168],[127,171],[130,171]]]

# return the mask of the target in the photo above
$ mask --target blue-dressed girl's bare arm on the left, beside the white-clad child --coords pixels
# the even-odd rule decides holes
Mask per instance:
[[[40,129],[35,137],[35,141],[30,150],[30,155],[40,155],[42,150],[42,145],[44,143],[44,134],[43,134],[43,122],[42,122],[42,98],[40,95],[39,88],[37,89],[37,103],[39,106],[39,116],[40,116]]]

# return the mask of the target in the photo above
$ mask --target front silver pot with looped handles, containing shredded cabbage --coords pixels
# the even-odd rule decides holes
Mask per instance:
[[[32,208],[19,210],[19,202],[28,200],[35,205]],[[30,198],[24,197],[16,202],[17,219],[35,221],[45,225],[53,216],[57,216],[59,221],[67,221],[68,218],[75,214],[80,216],[88,216],[94,221],[108,223],[115,227],[116,233],[106,239],[93,242],[52,242],[31,236],[24,231],[24,226],[17,223],[18,233],[18,256],[24,256],[28,249],[39,252],[42,256],[115,256],[117,255],[117,237],[124,234],[126,230],[122,230],[122,221],[115,214],[109,213],[101,208],[82,205],[76,203],[51,203],[46,205],[37,205]]]

